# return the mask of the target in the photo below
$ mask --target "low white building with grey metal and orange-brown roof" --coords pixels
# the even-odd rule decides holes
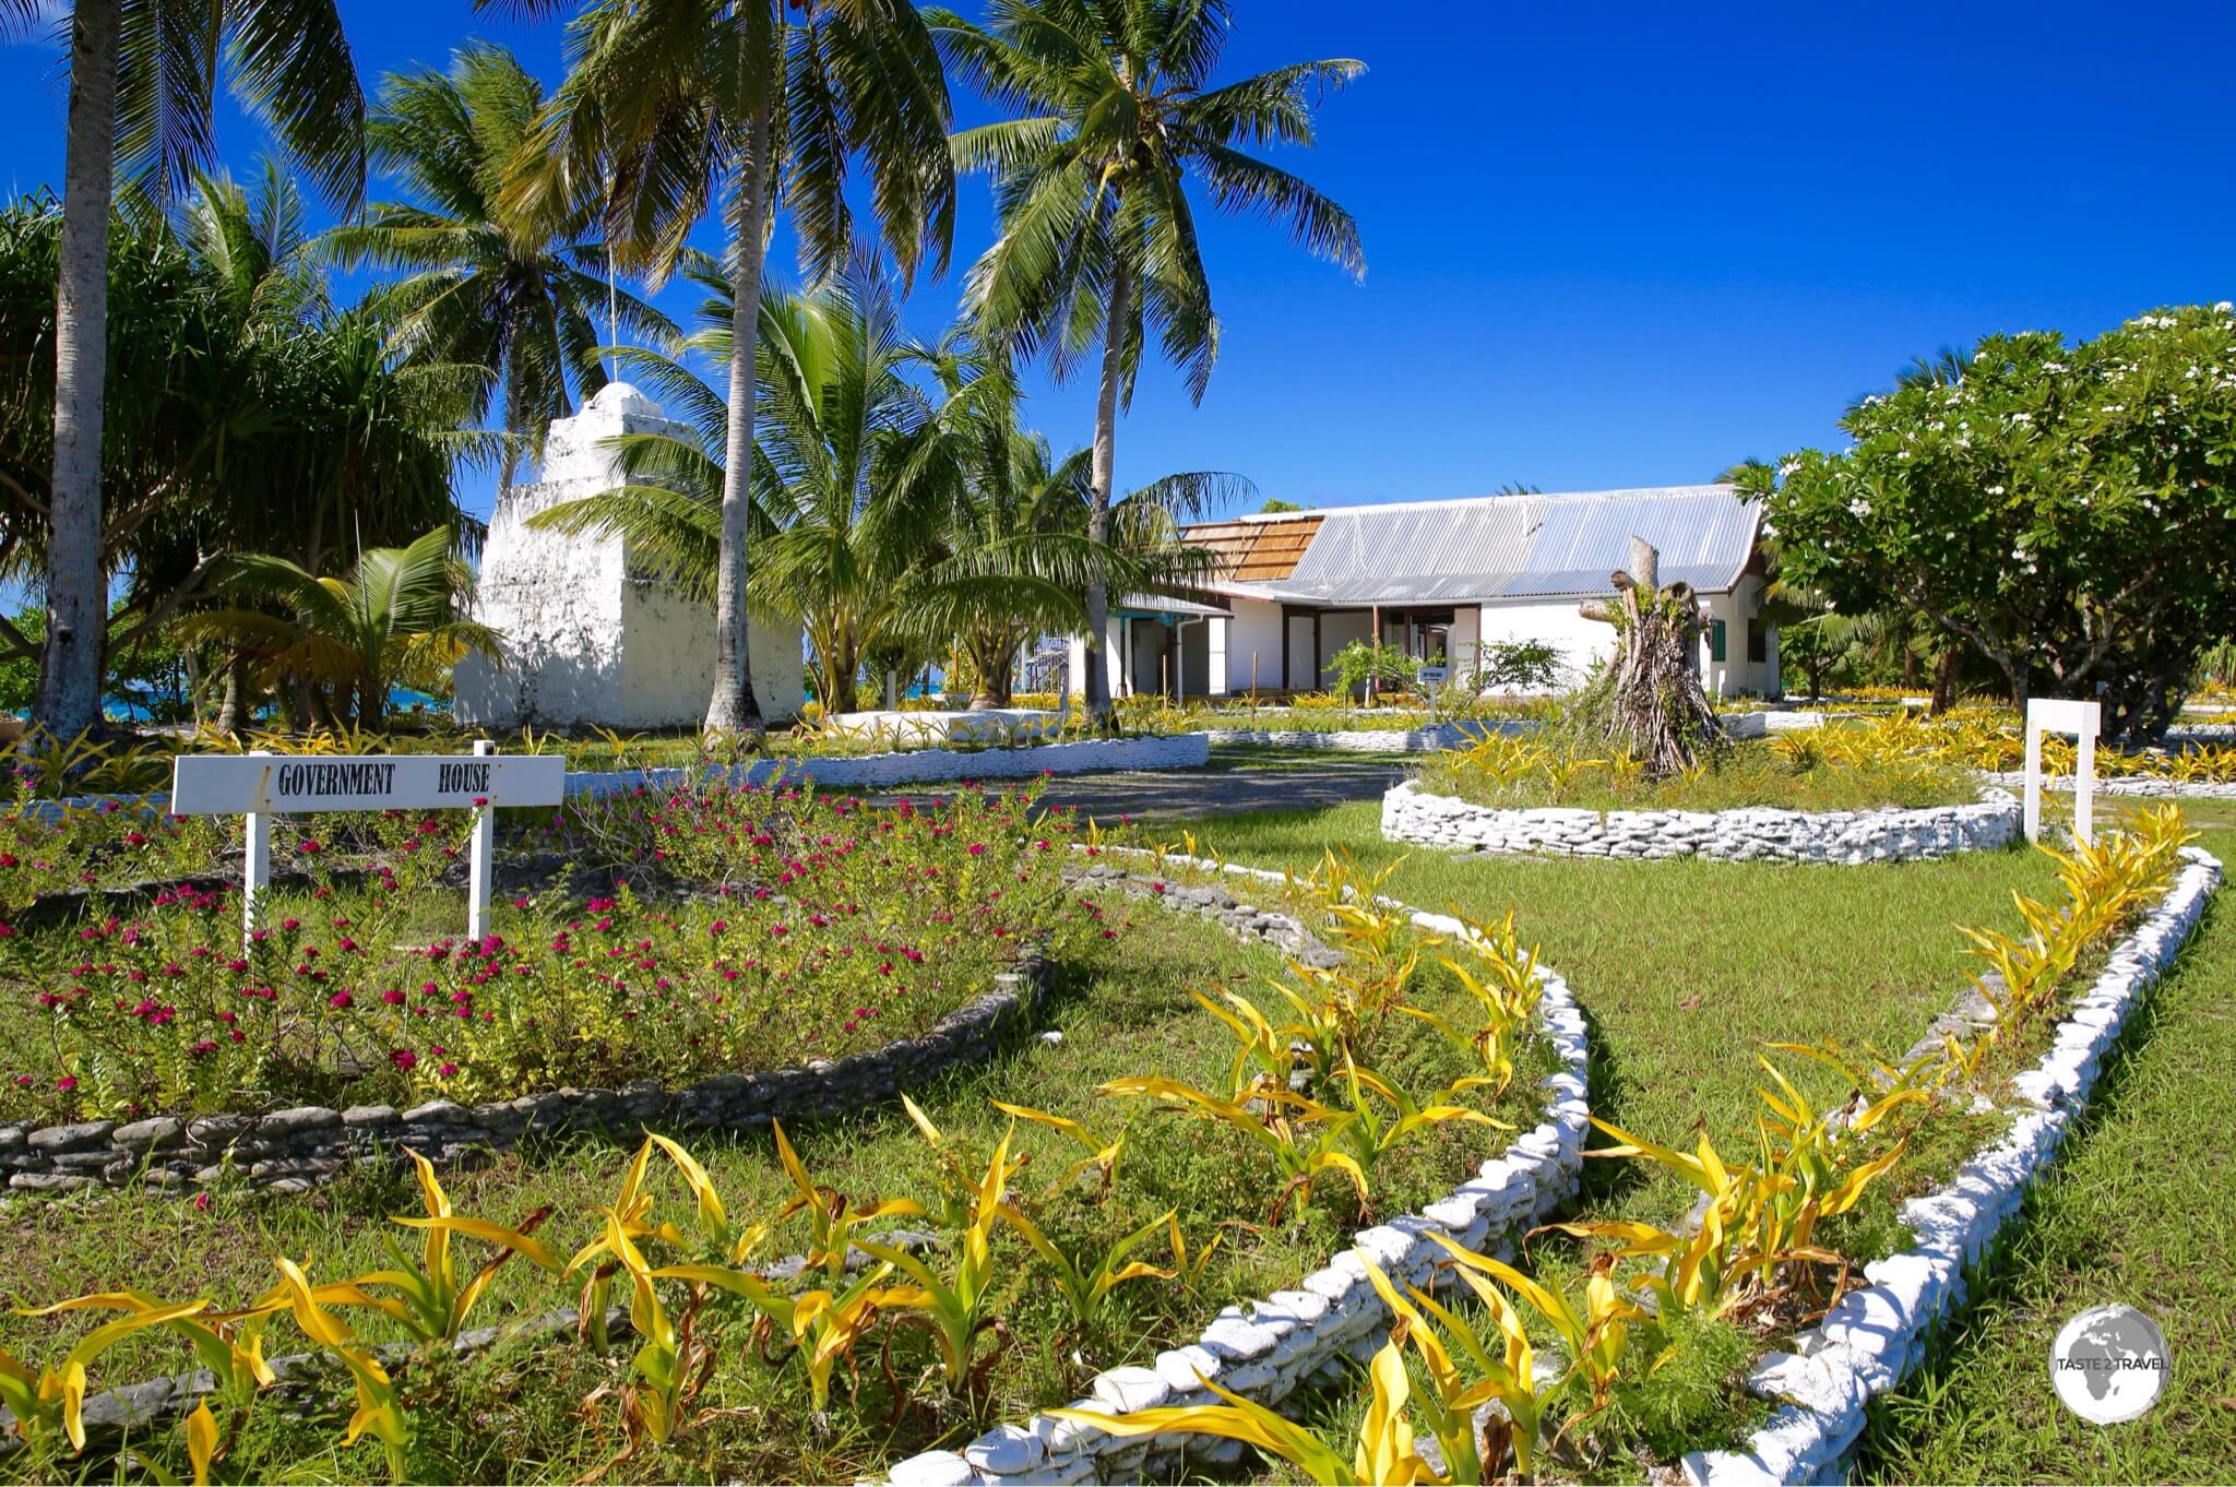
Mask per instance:
[[[1711,695],[1775,693],[1778,633],[1762,619],[1760,508],[1733,485],[1478,496],[1275,512],[1192,525],[1221,555],[1187,599],[1125,595],[1105,644],[1111,695],[1321,691],[1330,657],[1380,631],[1460,682],[1482,644],[1558,646],[1567,680],[1614,648],[1576,606],[1610,597],[1630,537],[1659,550],[1661,584],[1706,604],[1699,642]],[[1071,646],[1082,691],[1087,646]]]

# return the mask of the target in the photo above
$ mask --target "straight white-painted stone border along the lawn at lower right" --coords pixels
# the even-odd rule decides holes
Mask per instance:
[[[1865,1266],[1869,1286],[1847,1292],[1816,1330],[1796,1337],[1791,1353],[1757,1360],[1746,1384],[1780,1400],[1778,1413],[1744,1451],[1688,1451],[1681,1462],[1688,1483],[1847,1480],[1842,1458],[1863,1436],[1872,1395],[1892,1391],[1923,1362],[1930,1333],[1965,1297],[1965,1268],[1981,1261],[2028,1183],[2057,1158],[2088,1105],[2104,1053],[2220,885],[2218,859],[2196,847],[2182,850],[2182,859],[2167,897],[2057,1024],[2050,1051],[2012,1080],[2028,1114],[1959,1167],[1948,1187],[1903,1203],[1916,1248]]]

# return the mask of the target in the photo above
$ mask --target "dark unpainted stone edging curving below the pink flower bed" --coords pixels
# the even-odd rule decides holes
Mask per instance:
[[[0,1125],[0,1172],[9,1187],[29,1192],[134,1183],[195,1190],[224,1181],[306,1192],[347,1167],[400,1163],[405,1152],[458,1165],[566,1131],[633,1140],[646,1127],[742,1131],[771,1120],[823,1120],[894,1100],[903,1089],[991,1058],[1004,1033],[1033,1015],[1046,984],[1046,959],[1026,946],[1015,970],[993,977],[991,993],[919,1038],[805,1067],[718,1073],[689,1089],[637,1080],[622,1089],[552,1089],[472,1107],[452,1100],[405,1111],[302,1105],[264,1116]]]

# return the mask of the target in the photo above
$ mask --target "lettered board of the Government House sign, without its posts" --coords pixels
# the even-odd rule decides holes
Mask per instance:
[[[174,816],[474,809],[563,798],[566,758],[557,754],[181,754],[170,774]]]

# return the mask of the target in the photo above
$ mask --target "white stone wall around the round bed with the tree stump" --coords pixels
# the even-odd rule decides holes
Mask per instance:
[[[1436,796],[1418,780],[1382,796],[1382,834],[1449,852],[1547,852],[1554,856],[1711,856],[1728,863],[1905,863],[1988,852],[2019,839],[2019,803],[1990,789],[1979,805],[1925,809],[1789,812],[1588,812],[1498,809]]]

